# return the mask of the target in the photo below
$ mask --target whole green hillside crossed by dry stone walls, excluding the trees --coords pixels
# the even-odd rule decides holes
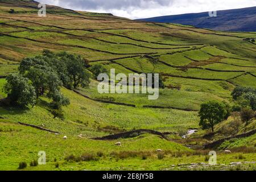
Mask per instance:
[[[19,162],[38,159],[39,151],[46,151],[47,164],[28,170],[161,170],[170,164],[182,169],[177,164],[205,162],[207,151],[195,152],[170,140],[181,139],[189,128],[199,128],[197,111],[203,102],[229,102],[236,85],[256,88],[255,32],[137,22],[56,6],[47,6],[46,17],[37,12],[34,1],[0,0],[0,98],[6,97],[5,77],[17,72],[24,57],[43,49],[79,54],[90,65],[102,64],[116,73],[161,72],[167,88],[160,89],[155,101],[149,101],[147,94],[98,94],[96,80],[76,92],[62,88],[71,100],[63,109],[64,119],[53,118],[44,97],[27,110],[0,106],[0,169],[15,170]],[[38,129],[42,126],[60,135]],[[134,129],[169,134],[170,140],[138,133],[118,140],[92,139]],[[82,138],[77,137],[80,134]],[[122,146],[115,146],[119,141]],[[163,160],[158,148],[164,151]],[[218,159],[229,165],[239,161],[237,155],[220,154]],[[244,155],[248,162],[255,160],[254,154]],[[89,161],[80,161],[81,156]]]

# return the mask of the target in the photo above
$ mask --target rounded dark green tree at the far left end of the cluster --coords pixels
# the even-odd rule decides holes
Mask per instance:
[[[25,107],[36,104],[35,89],[28,78],[24,78],[18,73],[10,74],[6,77],[6,85],[3,90],[7,94],[7,100],[12,105]]]

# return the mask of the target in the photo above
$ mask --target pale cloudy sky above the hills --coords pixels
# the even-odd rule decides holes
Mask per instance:
[[[73,10],[112,13],[130,19],[256,6],[256,0],[38,0]]]

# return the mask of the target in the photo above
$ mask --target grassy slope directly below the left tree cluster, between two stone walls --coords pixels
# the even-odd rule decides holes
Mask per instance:
[[[71,105],[64,107],[64,121],[53,119],[46,107],[47,100],[41,100],[38,106],[23,111],[0,107],[1,115],[15,122],[38,126],[44,123],[53,131],[76,135],[82,133],[89,137],[109,134],[102,132],[102,128],[106,126],[116,126],[119,130],[135,128],[182,132],[197,126],[196,112],[106,105],[90,101],[66,89],[63,89],[63,93],[71,98]]]

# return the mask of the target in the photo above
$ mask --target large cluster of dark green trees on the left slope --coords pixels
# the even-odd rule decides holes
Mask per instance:
[[[42,55],[22,60],[19,73],[7,76],[4,91],[11,105],[34,106],[40,96],[46,96],[51,107],[60,110],[69,105],[69,99],[60,92],[61,86],[72,89],[89,85],[90,73],[85,69],[88,61],[67,52],[44,50]]]

